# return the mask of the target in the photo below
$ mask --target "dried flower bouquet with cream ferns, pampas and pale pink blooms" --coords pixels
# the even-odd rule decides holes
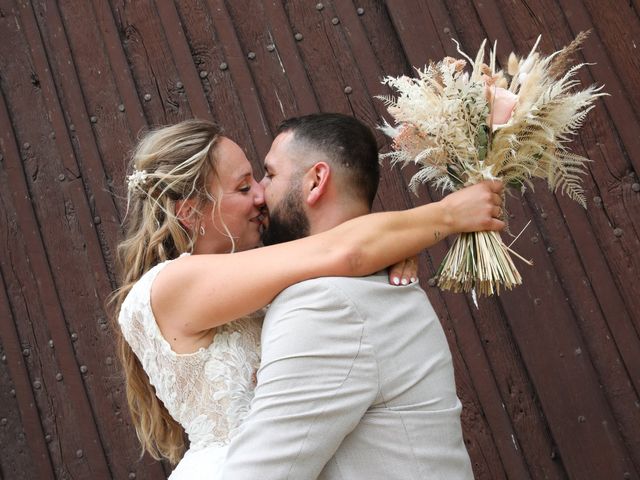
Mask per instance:
[[[381,157],[420,166],[410,182],[414,191],[426,182],[455,191],[484,179],[524,190],[543,178],[586,208],[581,175],[589,160],[568,143],[596,98],[606,95],[602,87],[574,90],[585,64],[570,61],[586,36],[546,57],[536,52],[538,37],[528,56],[511,53],[506,72],[496,70],[495,44],[484,63],[483,42],[473,60],[458,45],[466,61],[446,57],[416,69],[415,78],[385,78],[397,97],[379,97],[395,119],[395,126],[381,127],[393,138],[393,150]],[[504,205],[502,212],[506,220]],[[462,234],[439,268],[438,286],[480,295],[511,289],[522,278],[510,253],[519,257],[496,232]]]

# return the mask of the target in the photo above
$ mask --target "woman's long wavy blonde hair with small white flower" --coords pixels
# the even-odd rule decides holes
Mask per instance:
[[[184,452],[184,431],[156,397],[155,389],[118,327],[125,297],[142,275],[165,260],[193,249],[199,219],[186,229],[176,216],[176,202],[195,200],[195,214],[213,200],[208,181],[216,174],[215,147],[221,129],[205,120],[187,120],[146,133],[131,160],[125,240],[118,245],[120,288],[111,298],[118,355],[127,403],[142,445],[156,460],[177,463]]]

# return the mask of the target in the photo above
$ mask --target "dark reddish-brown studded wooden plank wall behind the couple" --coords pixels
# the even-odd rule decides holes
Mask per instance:
[[[321,7],[319,6],[321,4]],[[388,115],[380,80],[452,38],[498,60],[583,30],[584,85],[605,85],[572,148],[588,209],[536,183],[508,200],[532,268],[499,298],[420,281],[447,334],[477,479],[640,478],[638,0],[0,0],[0,479],[159,478],[139,460],[105,301],[144,129],[219,122],[256,175],[279,122]],[[388,139],[376,131],[383,151]],[[376,210],[440,198],[383,167]],[[520,265],[518,265],[520,267]]]

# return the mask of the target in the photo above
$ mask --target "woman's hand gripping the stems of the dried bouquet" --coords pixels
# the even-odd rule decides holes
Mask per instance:
[[[498,180],[485,180],[444,197],[446,223],[454,232],[502,230],[502,195],[504,185]]]

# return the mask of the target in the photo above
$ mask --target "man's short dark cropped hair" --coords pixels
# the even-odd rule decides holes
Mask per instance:
[[[330,163],[342,167],[352,192],[371,208],[380,182],[380,164],[369,127],[348,115],[314,113],[285,120],[276,134],[288,131],[294,132],[296,142],[324,153]]]

